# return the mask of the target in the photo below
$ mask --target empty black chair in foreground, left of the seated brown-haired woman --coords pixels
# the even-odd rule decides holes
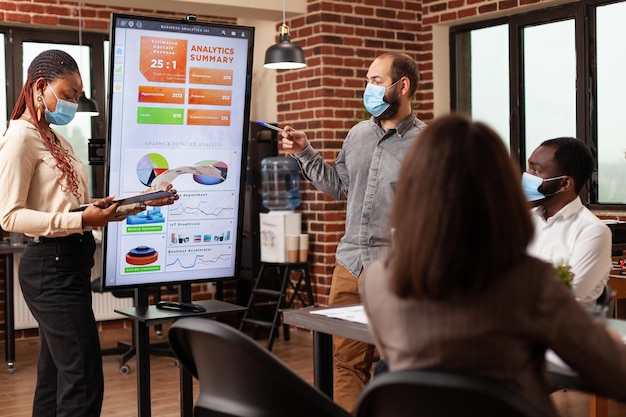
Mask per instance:
[[[190,317],[176,321],[168,336],[200,382],[194,417],[350,417],[234,327]]]

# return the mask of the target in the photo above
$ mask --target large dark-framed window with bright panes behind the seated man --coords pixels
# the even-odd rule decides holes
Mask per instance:
[[[624,209],[625,19],[626,1],[587,0],[452,28],[452,108],[494,127],[523,170],[543,140],[582,139],[597,164],[583,201]]]

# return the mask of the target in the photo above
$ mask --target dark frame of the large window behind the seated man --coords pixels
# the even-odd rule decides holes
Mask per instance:
[[[598,132],[597,132],[597,108],[593,103],[597,100],[597,69],[592,65],[595,57],[595,17],[596,8],[623,0],[586,0],[575,3],[533,10],[512,16],[498,17],[495,19],[473,22],[450,28],[450,103],[453,111],[467,112],[468,97],[462,95],[461,85],[469,85],[468,71],[461,71],[460,61],[463,51],[459,51],[458,42],[464,34],[473,30],[497,26],[509,25],[509,89],[510,89],[510,153],[520,169],[526,169],[528,155],[525,153],[525,103],[524,97],[524,57],[523,57],[523,30],[525,27],[541,25],[572,19],[575,24],[575,48],[576,48],[576,136],[583,140],[591,149],[595,166],[590,183],[585,184],[580,196],[583,203],[592,210],[625,210],[625,204],[600,204],[598,203]],[[465,39],[467,42],[467,39]],[[467,64],[467,62],[465,63]],[[461,74],[461,75],[459,75]],[[464,78],[461,78],[464,77]],[[471,92],[470,92],[471,97]],[[464,101],[464,102],[463,102]],[[465,106],[464,106],[465,103]]]

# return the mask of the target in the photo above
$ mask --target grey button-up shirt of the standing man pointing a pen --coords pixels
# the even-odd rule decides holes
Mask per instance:
[[[335,199],[348,200],[345,234],[336,259],[355,277],[386,253],[393,200],[390,183],[397,180],[404,155],[425,127],[412,113],[385,132],[372,117],[350,129],[333,166],[311,146],[293,155],[315,188]]]

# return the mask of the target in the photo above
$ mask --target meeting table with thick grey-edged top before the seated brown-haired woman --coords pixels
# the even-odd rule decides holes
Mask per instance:
[[[318,309],[283,310],[283,323],[313,331],[313,378],[315,386],[332,398],[333,395],[333,347],[332,336],[341,336],[365,343],[374,343],[367,325],[347,320],[310,314]],[[607,327],[626,336],[626,320],[607,320]],[[554,369],[553,372],[559,372]],[[590,397],[590,416],[606,417],[606,398]]]

